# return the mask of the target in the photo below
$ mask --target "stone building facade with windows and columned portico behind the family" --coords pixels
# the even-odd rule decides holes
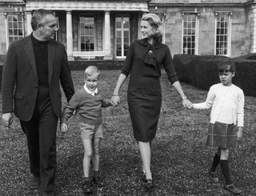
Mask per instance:
[[[0,54],[31,33],[33,10],[54,10],[70,60],[124,59],[142,14],[159,15],[172,54],[256,52],[256,0],[0,0]]]

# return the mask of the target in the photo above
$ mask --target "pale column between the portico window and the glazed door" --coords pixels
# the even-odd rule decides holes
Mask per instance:
[[[104,50],[105,50],[105,57],[104,59],[112,59],[111,54],[111,42],[110,42],[110,12],[105,12],[105,20],[104,20]]]

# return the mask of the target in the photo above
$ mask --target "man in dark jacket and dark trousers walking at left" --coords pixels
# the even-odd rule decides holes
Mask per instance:
[[[50,10],[35,10],[32,34],[10,44],[2,74],[2,120],[10,126],[13,113],[26,134],[32,174],[31,188],[54,195],[56,130],[62,110],[74,86],[65,47],[54,41],[57,18]],[[14,103],[14,108],[13,108]]]

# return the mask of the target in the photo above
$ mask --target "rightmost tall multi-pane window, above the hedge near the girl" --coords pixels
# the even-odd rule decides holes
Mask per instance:
[[[230,13],[215,13],[215,54],[230,56]]]

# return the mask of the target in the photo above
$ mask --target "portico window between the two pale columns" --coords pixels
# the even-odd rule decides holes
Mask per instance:
[[[94,51],[94,17],[80,17],[80,50]]]

